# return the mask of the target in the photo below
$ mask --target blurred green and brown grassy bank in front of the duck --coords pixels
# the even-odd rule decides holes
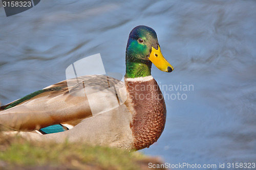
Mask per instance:
[[[161,163],[138,152],[85,143],[29,141],[0,132],[0,169],[148,169],[149,162]]]

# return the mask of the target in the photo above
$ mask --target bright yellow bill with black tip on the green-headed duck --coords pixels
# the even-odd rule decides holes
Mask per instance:
[[[163,57],[159,45],[157,50],[152,46],[148,59],[161,71],[172,72],[174,70],[174,67]]]

